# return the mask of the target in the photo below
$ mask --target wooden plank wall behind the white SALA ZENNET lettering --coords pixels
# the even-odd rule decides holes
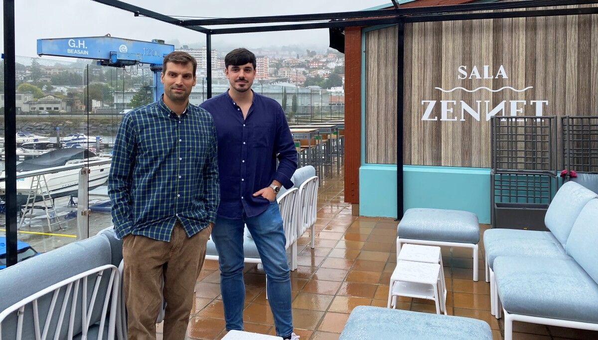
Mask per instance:
[[[366,162],[396,164],[395,84],[396,27],[366,35]],[[489,109],[506,100],[523,109],[518,115],[535,115],[532,100],[547,100],[543,115],[598,115],[598,16],[557,16],[515,19],[463,20],[459,22],[413,23],[405,25],[404,56],[404,164],[429,166],[490,167]],[[504,66],[507,78],[459,79],[459,66],[466,72],[484,65],[496,76]],[[463,87],[492,92],[451,90]],[[428,102],[436,104],[429,118],[422,120]],[[441,121],[440,100],[447,103],[447,119]],[[477,111],[480,121],[467,112],[461,120],[460,101]],[[502,115],[502,113],[499,113]],[[560,121],[559,121],[560,127]],[[561,136],[560,131],[557,136]],[[562,143],[559,141],[559,149]],[[560,155],[557,159],[561,159]]]

